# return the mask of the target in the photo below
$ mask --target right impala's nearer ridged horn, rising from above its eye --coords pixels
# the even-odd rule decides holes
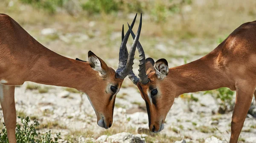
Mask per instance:
[[[128,24],[128,27],[129,27],[129,30],[131,32],[131,36],[133,37],[133,39],[135,39],[135,34],[131,30],[131,27],[130,27],[129,24]],[[139,51],[139,57],[140,57],[140,64],[139,64],[140,68],[139,68],[139,75],[138,76],[140,77],[140,82],[142,84],[147,84],[149,80],[148,80],[148,77],[147,77],[147,74],[146,74],[145,53],[144,53],[144,50],[143,50],[142,45],[140,44],[140,42],[138,42],[138,44],[137,44],[137,49]]]

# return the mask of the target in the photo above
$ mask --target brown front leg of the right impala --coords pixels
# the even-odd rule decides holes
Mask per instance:
[[[244,85],[243,87],[237,87],[236,90],[236,103],[231,122],[231,137],[230,143],[237,143],[240,132],[244,125],[247,112],[250,108],[250,104],[253,98],[253,88],[250,85]]]

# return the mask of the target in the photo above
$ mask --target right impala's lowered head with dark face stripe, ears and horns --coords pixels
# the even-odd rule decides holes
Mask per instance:
[[[134,38],[135,35],[130,27],[129,30]],[[150,131],[160,132],[164,128],[166,115],[175,98],[175,92],[172,91],[175,89],[165,80],[169,72],[168,62],[166,59],[159,59],[157,62],[151,58],[145,59],[140,42],[137,48],[140,56],[139,79],[134,74],[129,75],[129,78],[137,85],[146,103]]]

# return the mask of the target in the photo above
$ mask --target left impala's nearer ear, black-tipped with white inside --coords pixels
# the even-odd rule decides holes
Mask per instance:
[[[90,67],[93,68],[93,70],[96,70],[99,72],[100,76],[105,76],[108,72],[108,66],[107,64],[100,59],[98,56],[96,56],[92,51],[88,52],[88,62],[90,64]]]

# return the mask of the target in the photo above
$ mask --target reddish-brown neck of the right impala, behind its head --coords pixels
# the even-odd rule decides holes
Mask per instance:
[[[194,62],[169,69],[168,79],[176,87],[176,95],[229,87],[217,58],[207,55]]]

